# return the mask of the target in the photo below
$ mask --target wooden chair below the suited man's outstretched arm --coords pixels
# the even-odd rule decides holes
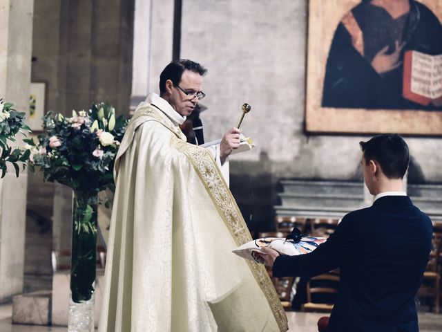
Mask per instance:
[[[336,273],[311,277],[307,282],[307,303],[301,304],[301,311],[331,312],[338,288],[339,275]]]

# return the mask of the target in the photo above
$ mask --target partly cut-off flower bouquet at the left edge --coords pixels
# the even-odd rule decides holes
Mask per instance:
[[[21,132],[26,136],[26,132],[30,132],[30,128],[24,124],[25,113],[17,112],[12,107],[14,104],[10,102],[3,102],[0,99],[0,169],[1,178],[8,172],[7,163],[12,164],[15,168],[15,175],[19,177],[21,163],[23,169],[26,167],[26,162],[30,156],[30,149],[21,149],[19,147],[12,150],[8,145],[8,140],[16,142],[15,135]]]

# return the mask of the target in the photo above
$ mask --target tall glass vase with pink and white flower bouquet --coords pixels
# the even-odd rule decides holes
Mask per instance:
[[[26,140],[31,171],[39,166],[46,181],[74,191],[69,331],[93,331],[98,192],[115,189],[113,166],[127,124],[106,103],[73,111],[70,118],[48,111],[37,144]]]

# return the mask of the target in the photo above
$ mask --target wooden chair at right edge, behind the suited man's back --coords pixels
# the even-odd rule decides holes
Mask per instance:
[[[441,301],[441,269],[439,267],[441,241],[441,237],[433,237],[430,258],[428,259],[427,268],[423,273],[422,285],[417,292],[418,297],[432,297],[434,299],[434,304],[431,303],[429,308],[431,310],[434,307],[436,313],[439,313]]]

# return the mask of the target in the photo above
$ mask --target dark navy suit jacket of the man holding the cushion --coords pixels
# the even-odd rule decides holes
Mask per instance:
[[[384,196],[347,214],[307,255],[276,258],[273,276],[340,268],[332,332],[419,331],[414,296],[431,250],[432,222],[407,196]]]

